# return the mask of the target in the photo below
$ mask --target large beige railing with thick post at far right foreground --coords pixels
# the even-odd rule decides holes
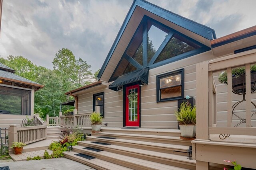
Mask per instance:
[[[250,66],[256,63],[256,50],[238,53],[212,61],[205,61],[196,65],[196,138],[208,140],[209,134],[226,135],[256,135],[256,127],[252,127],[252,94]],[[244,119],[241,119],[245,127],[234,127],[234,103],[232,104],[232,69],[245,67],[246,95],[244,107]],[[219,127],[217,123],[217,96],[218,89],[214,82],[214,73],[227,72],[227,106],[226,106],[226,127]],[[234,120],[233,120],[234,121]],[[240,121],[240,120],[239,120]],[[223,125],[222,125],[223,126]]]

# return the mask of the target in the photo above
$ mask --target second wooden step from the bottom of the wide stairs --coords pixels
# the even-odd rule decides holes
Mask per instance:
[[[72,150],[74,152],[87,154],[95,158],[119,164],[121,166],[125,166],[135,170],[184,170],[184,168],[161,164],[158,162],[152,162],[140,158],[134,158],[123,154],[116,154],[108,151],[95,152],[92,150],[83,149],[83,146],[74,146]],[[188,168],[190,170],[195,169],[191,166],[188,166]]]

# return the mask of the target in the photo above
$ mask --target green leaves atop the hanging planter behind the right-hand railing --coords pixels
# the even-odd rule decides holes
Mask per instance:
[[[256,71],[256,64],[251,65],[251,71]],[[245,67],[234,68],[231,70],[232,77],[238,78],[242,74],[245,74]],[[218,77],[219,82],[227,84],[228,73],[226,71],[221,72]]]

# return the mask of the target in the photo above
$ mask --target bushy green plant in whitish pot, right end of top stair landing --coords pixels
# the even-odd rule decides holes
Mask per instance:
[[[181,137],[194,138],[196,136],[196,106],[183,102],[180,109],[175,111],[176,119],[180,125]]]

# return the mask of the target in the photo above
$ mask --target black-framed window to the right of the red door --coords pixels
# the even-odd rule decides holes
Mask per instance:
[[[157,102],[184,98],[184,69],[156,76]]]

